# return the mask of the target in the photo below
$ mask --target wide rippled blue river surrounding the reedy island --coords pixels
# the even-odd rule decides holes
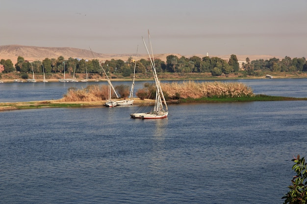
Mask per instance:
[[[237,81],[307,97],[307,79]],[[3,83],[0,102],[89,84]],[[0,112],[0,203],[281,204],[291,159],[307,156],[307,101],[170,104],[166,119],[130,118],[139,108]]]

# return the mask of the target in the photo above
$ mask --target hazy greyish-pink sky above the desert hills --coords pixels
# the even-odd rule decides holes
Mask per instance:
[[[0,45],[307,57],[307,0],[1,0]]]

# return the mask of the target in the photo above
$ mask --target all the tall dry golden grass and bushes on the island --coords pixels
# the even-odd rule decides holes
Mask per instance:
[[[136,95],[141,98],[151,98],[155,95],[154,85],[145,84]],[[162,90],[167,99],[187,98],[239,98],[254,96],[252,89],[238,82],[194,82],[184,81],[182,83],[161,83]],[[60,101],[101,101],[108,98],[108,86],[88,86],[85,89],[70,88]],[[126,90],[126,89],[123,89]],[[115,98],[113,95],[112,98]]]

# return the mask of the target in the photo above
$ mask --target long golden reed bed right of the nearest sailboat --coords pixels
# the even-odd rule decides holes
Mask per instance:
[[[238,82],[194,82],[184,81],[182,83],[161,83],[162,90],[169,99],[179,98],[237,98],[254,96],[253,90],[245,84]]]

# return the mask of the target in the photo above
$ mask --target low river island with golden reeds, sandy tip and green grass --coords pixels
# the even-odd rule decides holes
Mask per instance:
[[[182,83],[161,83],[166,100],[170,103],[188,102],[251,102],[251,101],[289,101],[307,100],[307,98],[268,96],[254,94],[252,89],[237,82],[186,81]],[[129,86],[116,86],[122,98],[129,93]],[[134,104],[152,103],[155,96],[153,84],[145,83],[143,89],[136,92]],[[70,88],[59,100],[0,103],[0,111],[36,108],[79,108],[103,106],[108,96],[107,85],[88,86],[85,89]]]

